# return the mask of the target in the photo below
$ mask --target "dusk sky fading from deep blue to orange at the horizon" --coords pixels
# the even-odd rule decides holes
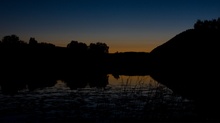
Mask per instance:
[[[220,0],[0,0],[0,38],[64,46],[106,43],[110,52],[150,52],[198,20],[220,17]]]

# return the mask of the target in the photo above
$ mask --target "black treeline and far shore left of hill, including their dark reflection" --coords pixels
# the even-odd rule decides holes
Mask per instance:
[[[58,47],[39,43],[35,38],[27,43],[16,35],[5,36],[0,41],[0,86],[12,93],[24,85],[33,90],[54,85],[56,80],[67,82],[72,89],[88,83],[91,87],[104,87],[108,82],[103,80],[109,73],[146,75],[148,53],[110,54],[108,50],[107,44],[101,42],[86,45],[71,41],[66,47]]]

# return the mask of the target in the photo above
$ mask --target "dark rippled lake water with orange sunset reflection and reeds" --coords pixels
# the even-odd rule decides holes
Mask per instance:
[[[193,101],[149,76],[109,77],[105,88],[71,90],[58,80],[52,87],[0,91],[0,123],[4,122],[145,122],[195,121]]]

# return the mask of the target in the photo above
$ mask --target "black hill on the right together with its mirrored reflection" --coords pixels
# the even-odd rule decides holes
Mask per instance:
[[[220,19],[200,21],[150,52],[150,75],[198,103],[205,115],[219,111]],[[207,113],[208,112],[208,113]],[[219,117],[219,116],[217,116]]]

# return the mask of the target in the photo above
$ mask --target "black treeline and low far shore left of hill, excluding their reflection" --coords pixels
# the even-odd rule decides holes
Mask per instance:
[[[10,35],[0,41],[0,57],[5,75],[42,74],[60,76],[73,73],[105,72],[123,73],[128,70],[143,73],[147,66],[148,53],[126,52],[109,53],[105,43],[85,43],[71,41],[67,47],[57,47],[51,43],[38,43],[30,38],[26,43],[18,36]],[[37,72],[38,71],[38,72]]]

